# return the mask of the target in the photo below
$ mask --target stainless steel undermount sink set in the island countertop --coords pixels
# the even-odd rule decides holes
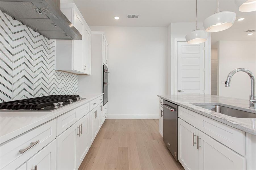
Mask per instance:
[[[256,118],[255,113],[241,111],[238,109],[232,109],[230,107],[225,107],[220,105],[201,105],[201,104],[194,104],[194,105],[205,108],[205,109],[209,109],[211,111],[215,111],[221,114],[236,117],[236,118]]]

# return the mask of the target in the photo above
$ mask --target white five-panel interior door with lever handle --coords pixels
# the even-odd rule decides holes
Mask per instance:
[[[177,44],[176,94],[204,94],[204,43]]]

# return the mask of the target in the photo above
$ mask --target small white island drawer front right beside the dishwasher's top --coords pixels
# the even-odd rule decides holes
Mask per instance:
[[[191,124],[195,128],[198,128],[198,119],[199,114],[193,111],[190,111],[188,109],[185,109],[183,107],[178,107],[178,116],[182,120],[186,121],[187,123]]]

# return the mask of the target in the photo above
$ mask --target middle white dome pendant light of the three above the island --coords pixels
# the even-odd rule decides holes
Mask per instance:
[[[218,12],[206,18],[203,22],[205,31],[214,33],[230,28],[236,20],[236,13],[230,11],[220,12],[220,1],[218,0]]]

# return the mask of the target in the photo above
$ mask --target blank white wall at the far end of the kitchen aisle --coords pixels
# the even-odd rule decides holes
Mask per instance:
[[[166,94],[166,27],[90,26],[109,43],[108,118],[158,118]]]

